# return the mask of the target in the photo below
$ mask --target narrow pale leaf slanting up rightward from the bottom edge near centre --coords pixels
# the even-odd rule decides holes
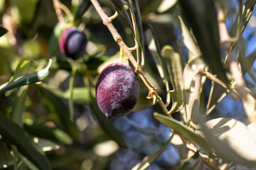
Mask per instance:
[[[149,154],[149,156],[144,157],[141,162],[139,162],[137,165],[135,165],[132,170],[143,170],[150,166],[158,157],[159,155],[164,152],[164,149],[169,145],[171,142],[173,135],[171,135],[170,139],[164,144],[161,149],[157,150],[156,152]]]

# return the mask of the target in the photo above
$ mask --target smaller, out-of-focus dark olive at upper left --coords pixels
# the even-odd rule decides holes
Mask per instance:
[[[85,55],[85,47],[87,45],[87,38],[82,30],[76,27],[68,28],[63,31],[60,36],[60,51],[63,55],[77,60]]]

